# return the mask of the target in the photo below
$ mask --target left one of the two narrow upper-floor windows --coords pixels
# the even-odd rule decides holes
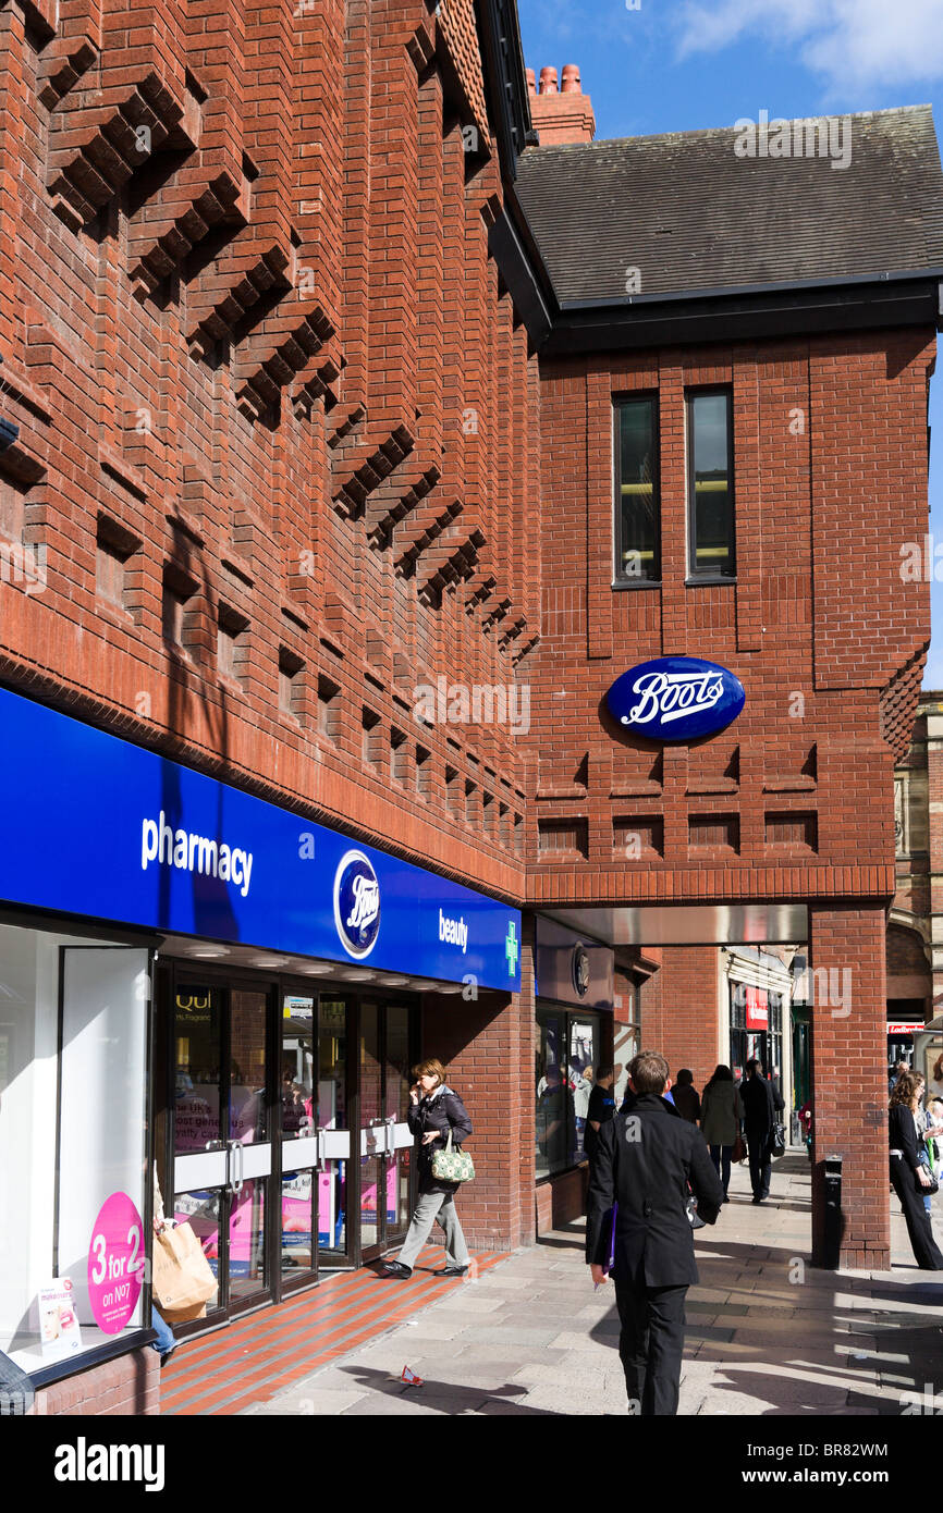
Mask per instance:
[[[658,409],[655,399],[616,405],[616,583],[658,583]]]

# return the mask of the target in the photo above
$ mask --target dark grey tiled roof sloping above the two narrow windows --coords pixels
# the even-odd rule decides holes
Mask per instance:
[[[557,298],[624,301],[943,266],[931,107],[833,118],[833,156],[805,156],[820,141],[808,126],[789,123],[786,135],[770,121],[752,141],[724,127],[528,148],[518,192]],[[787,145],[790,156],[760,156],[763,145]],[[755,156],[743,156],[749,147]]]

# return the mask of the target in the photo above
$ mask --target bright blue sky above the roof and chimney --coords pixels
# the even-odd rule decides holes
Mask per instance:
[[[633,0],[634,3],[634,0]],[[596,136],[934,106],[943,0],[518,0],[528,68],[578,64]],[[943,543],[943,336],[931,383],[929,530]],[[941,552],[943,557],[943,552]],[[943,572],[943,566],[940,567]],[[943,583],[923,685],[943,688]]]

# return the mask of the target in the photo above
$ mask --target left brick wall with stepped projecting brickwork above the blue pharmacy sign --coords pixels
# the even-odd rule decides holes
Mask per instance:
[[[430,11],[168,0],[130,48],[100,0],[0,11],[0,537],[47,573],[0,581],[0,676],[519,896],[518,743],[412,716],[537,632],[536,357],[474,9]]]

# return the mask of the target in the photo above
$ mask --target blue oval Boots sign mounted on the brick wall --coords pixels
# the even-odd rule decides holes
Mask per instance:
[[[737,719],[743,684],[727,667],[699,657],[658,657],[616,678],[608,713],[649,741],[693,741]]]

